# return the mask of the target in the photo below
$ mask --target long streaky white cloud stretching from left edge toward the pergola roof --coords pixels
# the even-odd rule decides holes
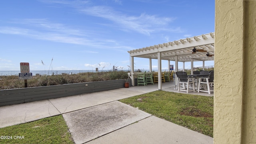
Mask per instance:
[[[102,39],[95,32],[72,29],[63,24],[52,23],[46,19],[15,19],[10,23],[19,23],[19,27],[2,26],[0,27],[0,34],[20,35],[32,39],[86,45],[100,49],[132,49],[131,47],[120,45],[116,40]],[[21,28],[22,26],[29,27],[29,29]],[[98,53],[95,51],[86,52]]]

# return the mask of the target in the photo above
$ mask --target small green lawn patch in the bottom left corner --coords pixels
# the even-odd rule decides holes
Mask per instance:
[[[0,136],[10,136],[0,144],[74,144],[62,115],[0,128]]]

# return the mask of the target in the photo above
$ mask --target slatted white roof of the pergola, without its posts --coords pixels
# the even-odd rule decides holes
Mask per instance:
[[[175,55],[178,55],[178,61],[190,61],[186,58],[182,59],[179,55],[189,55],[192,53],[192,49],[204,49],[207,52],[197,52],[190,55],[190,59],[199,58],[196,61],[214,60],[214,57],[207,57],[206,53],[211,52],[214,54],[214,33],[203,34],[201,36],[194,36],[186,39],[180,39],[178,41],[172,41],[168,43],[158,44],[154,46],[144,47],[141,49],[134,49],[128,51],[130,56],[152,58],[157,59],[158,52],[164,52],[162,59],[169,60],[173,59]],[[202,53],[205,57],[202,57]],[[200,56],[200,57],[199,57]]]

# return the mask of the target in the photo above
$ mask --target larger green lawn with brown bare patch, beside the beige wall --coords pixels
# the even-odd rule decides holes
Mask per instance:
[[[120,102],[213,137],[213,97],[154,91]]]

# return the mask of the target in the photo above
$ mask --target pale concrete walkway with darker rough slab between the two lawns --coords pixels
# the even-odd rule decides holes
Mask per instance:
[[[173,82],[162,89],[177,92]],[[3,106],[0,128],[62,114],[76,144],[213,144],[209,136],[118,101],[157,90],[155,84]]]

